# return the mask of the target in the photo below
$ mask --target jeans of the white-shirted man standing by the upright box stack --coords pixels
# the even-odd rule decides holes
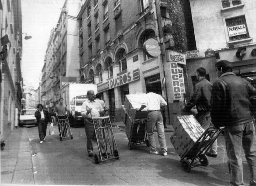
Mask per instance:
[[[147,132],[149,138],[149,144],[152,151],[157,150],[154,137],[154,128],[156,126],[158,141],[162,151],[167,151],[165,142],[165,128],[163,123],[163,117],[160,111],[152,111],[148,114]]]

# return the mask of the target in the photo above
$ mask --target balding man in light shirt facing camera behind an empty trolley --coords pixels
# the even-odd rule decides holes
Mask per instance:
[[[104,114],[104,109],[99,101],[95,101],[95,95],[93,90],[87,91],[88,100],[83,102],[81,106],[81,115],[85,117],[85,134],[86,134],[86,148],[89,157],[93,157],[92,137],[94,133],[94,123],[92,117],[100,117],[100,114]],[[100,138],[100,146],[105,149],[102,142],[102,136]],[[102,156],[106,156],[103,153]]]

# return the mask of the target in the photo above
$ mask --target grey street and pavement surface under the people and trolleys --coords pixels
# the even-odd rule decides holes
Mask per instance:
[[[124,129],[113,127],[120,159],[107,160],[100,165],[96,165],[94,159],[87,155],[85,129],[80,127],[71,130],[73,139],[66,138],[59,141],[58,128],[54,126],[54,135],[48,135],[48,127],[46,141],[40,144],[37,127],[17,128],[13,132],[16,133],[16,138],[8,138],[5,149],[1,151],[1,184],[138,186],[170,184],[227,186],[229,184],[223,135],[218,138],[218,157],[208,158],[207,167],[195,167],[187,173],[182,170],[180,157],[171,145],[170,130],[165,133],[168,155],[164,157],[149,154],[145,144],[133,146],[134,148],[129,150]],[[19,145],[19,143],[23,144]],[[30,153],[25,152],[24,143],[29,144]],[[94,144],[94,152],[97,153],[96,141]],[[15,155],[15,149],[9,145],[15,145],[16,151],[20,149],[20,152]],[[16,163],[14,163],[15,158]],[[29,159],[32,163],[28,163]],[[247,178],[245,183],[248,183],[250,174],[246,161],[244,161],[244,171],[244,177]]]

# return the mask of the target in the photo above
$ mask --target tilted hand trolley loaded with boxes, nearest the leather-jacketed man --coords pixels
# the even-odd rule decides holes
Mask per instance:
[[[175,132],[171,143],[181,157],[183,169],[189,172],[193,167],[208,165],[206,153],[224,128],[209,127],[206,130],[197,122],[193,115],[178,116],[178,124],[174,124]]]

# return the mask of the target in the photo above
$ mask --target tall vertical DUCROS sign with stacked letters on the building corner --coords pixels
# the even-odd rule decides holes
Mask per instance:
[[[181,99],[181,86],[180,86],[180,78],[178,71],[178,64],[176,62],[170,63],[171,67],[171,82],[172,82],[172,90],[173,90],[173,99],[180,100]]]

